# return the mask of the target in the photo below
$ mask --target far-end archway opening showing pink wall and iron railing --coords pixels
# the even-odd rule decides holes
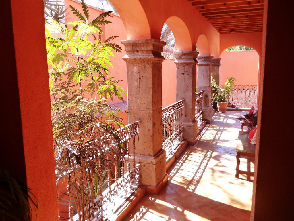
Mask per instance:
[[[229,103],[232,108],[250,108],[257,104],[259,55],[248,46],[233,46],[220,54],[219,85],[223,87],[228,77],[235,85]]]

